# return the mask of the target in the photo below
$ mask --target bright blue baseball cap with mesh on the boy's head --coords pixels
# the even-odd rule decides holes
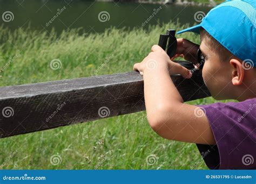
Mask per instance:
[[[201,23],[185,30],[200,34],[203,27],[214,39],[243,61],[256,67],[256,1],[226,0],[215,6]]]

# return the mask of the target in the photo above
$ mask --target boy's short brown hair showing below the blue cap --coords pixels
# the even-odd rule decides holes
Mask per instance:
[[[200,39],[201,41],[205,39],[209,49],[213,50],[215,53],[220,53],[218,56],[221,61],[230,61],[232,58],[239,59],[215,40],[207,31],[205,31],[205,29],[203,29],[203,27],[200,29]]]

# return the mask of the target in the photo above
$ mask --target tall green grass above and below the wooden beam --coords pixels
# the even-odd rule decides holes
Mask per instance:
[[[1,73],[0,85],[86,77],[95,75],[97,69],[97,75],[127,72],[158,43],[159,34],[187,26],[151,26],[148,31],[112,28],[102,34],[76,29],[60,36],[54,30],[10,32],[2,26],[0,66],[5,66],[10,57],[18,56]],[[194,33],[182,36],[199,44],[199,36]],[[109,62],[99,69],[111,55]],[[51,69],[53,59],[59,59],[62,68]],[[212,102],[212,98],[206,98],[190,103]],[[154,133],[145,112],[4,138],[0,139],[0,146],[3,169],[190,169],[200,159],[195,144],[166,140]],[[52,165],[50,158],[56,154],[62,161]],[[157,162],[148,165],[146,158],[151,154],[156,155]],[[206,168],[203,161],[194,167]]]

